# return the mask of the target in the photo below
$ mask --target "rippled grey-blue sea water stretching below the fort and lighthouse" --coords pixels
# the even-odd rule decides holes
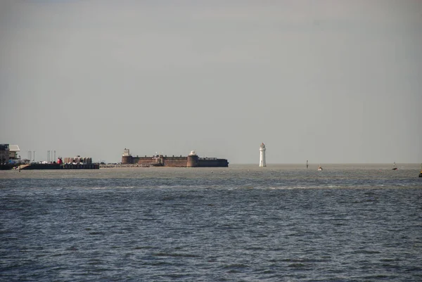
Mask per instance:
[[[0,172],[1,281],[422,281],[418,165]]]

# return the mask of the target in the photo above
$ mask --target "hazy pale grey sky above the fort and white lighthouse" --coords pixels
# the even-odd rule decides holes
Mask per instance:
[[[0,1],[0,143],[36,160],[422,162],[422,1]]]

